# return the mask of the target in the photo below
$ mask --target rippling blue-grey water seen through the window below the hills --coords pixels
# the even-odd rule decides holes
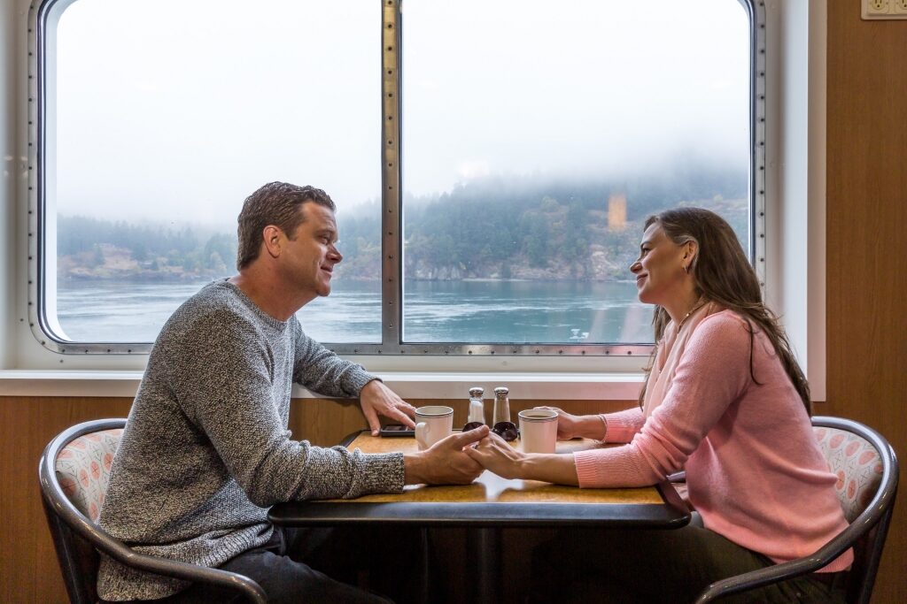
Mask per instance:
[[[73,341],[153,341],[204,283],[67,282],[57,318]],[[299,321],[324,342],[379,343],[381,283],[337,280]],[[605,343],[651,341],[652,310],[635,283],[406,282],[405,342]]]

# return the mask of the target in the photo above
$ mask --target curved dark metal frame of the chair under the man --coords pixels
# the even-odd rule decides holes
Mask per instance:
[[[88,566],[91,576],[83,576],[85,557],[94,556],[96,559],[97,550],[134,569],[239,591],[249,601],[265,604],[268,601],[265,591],[249,577],[227,570],[211,569],[132,551],[123,542],[114,539],[110,533],[103,531],[70,502],[56,477],[57,455],[64,446],[79,436],[122,428],[125,425],[125,419],[97,419],[78,424],[56,436],[41,455],[38,475],[41,481],[44,513],[47,515],[47,523],[54,537],[54,548],[70,600],[76,604],[93,604],[97,601],[94,588],[97,578],[96,560],[90,561]],[[80,561],[83,562],[82,566],[79,564]]]

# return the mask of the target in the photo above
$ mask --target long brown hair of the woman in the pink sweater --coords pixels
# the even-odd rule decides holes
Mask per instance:
[[[697,292],[709,302],[717,302],[746,319],[749,330],[749,372],[753,381],[758,384],[753,374],[753,344],[754,326],[763,331],[768,340],[772,342],[775,353],[781,360],[787,376],[796,388],[797,394],[803,400],[806,413],[813,415],[813,407],[809,398],[809,384],[803,369],[797,364],[790,342],[787,340],[785,330],[781,327],[777,316],[766,308],[762,302],[762,290],[759,288],[759,279],[756,271],[749,264],[740,242],[737,241],[734,229],[727,224],[724,218],[714,212],[700,207],[680,207],[667,210],[658,216],[649,216],[645,228],[650,225],[661,226],[668,239],[675,244],[682,245],[689,241],[697,243],[698,252],[689,266],[693,275]],[[656,349],[652,353],[652,360],[658,352],[658,342],[664,335],[665,327],[670,317],[661,306],[656,305],[652,325],[655,328]],[[646,396],[646,384],[652,364],[646,369],[646,382],[639,392],[639,405],[643,404]]]

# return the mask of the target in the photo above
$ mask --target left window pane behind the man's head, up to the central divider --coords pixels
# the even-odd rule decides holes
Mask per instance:
[[[353,256],[330,303],[300,317],[307,332],[380,341],[380,283],[343,278],[380,263],[365,243],[380,241],[380,5],[78,0],[46,12],[44,322],[60,346],[147,350],[202,283],[235,272],[239,208],[270,180],[326,189]]]

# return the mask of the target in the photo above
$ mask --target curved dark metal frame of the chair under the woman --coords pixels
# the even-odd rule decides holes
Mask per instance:
[[[875,447],[882,462],[882,481],[872,501],[853,523],[809,556],[752,570],[735,577],[716,581],[696,600],[697,604],[711,602],[724,596],[753,590],[771,583],[800,577],[823,568],[844,551],[853,547],[853,566],[847,578],[847,601],[868,604],[873,593],[875,575],[894,512],[898,490],[898,460],[888,441],[859,422],[840,417],[813,417],[814,427],[831,427],[862,436]]]

